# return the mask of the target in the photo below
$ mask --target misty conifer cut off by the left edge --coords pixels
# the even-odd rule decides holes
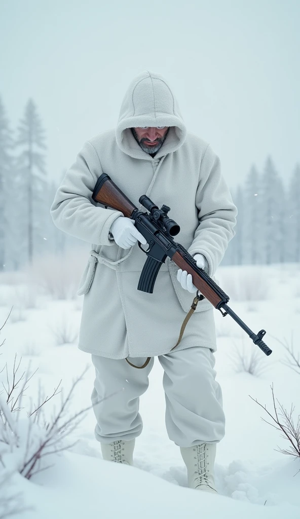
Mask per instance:
[[[12,225],[10,221],[10,200],[13,198],[11,175],[13,158],[12,130],[6,117],[4,105],[0,98],[0,270],[6,270],[9,264],[9,241]]]

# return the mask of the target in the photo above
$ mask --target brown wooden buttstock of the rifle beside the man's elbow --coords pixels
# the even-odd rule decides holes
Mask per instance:
[[[93,193],[93,200],[102,203],[103,206],[121,211],[128,218],[130,218],[132,211],[137,209],[111,179],[104,182],[98,193]]]

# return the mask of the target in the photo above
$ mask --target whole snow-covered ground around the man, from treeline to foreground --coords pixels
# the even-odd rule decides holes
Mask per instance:
[[[266,412],[250,398],[266,404],[272,412],[270,385],[274,385],[278,401],[288,409],[293,403],[295,418],[300,414],[300,374],[285,365],[287,352],[280,343],[293,345],[294,352],[300,353],[300,264],[224,266],[216,277],[230,296],[231,308],[255,333],[265,329],[264,341],[273,350],[266,357],[229,316],[224,318],[215,310],[216,370],[226,414],[226,435],[217,446],[215,465],[219,495],[187,488],[179,447],[168,439],[165,429],[162,368],[155,359],[149,388],[140,399],[144,428],[135,443],[135,467],[102,460],[90,409],[68,438],[68,443],[77,443],[68,451],[50,455],[50,468],[30,481],[18,472],[12,474],[10,491],[21,492],[23,506],[32,507],[16,517],[300,516],[300,459],[275,450],[288,448],[288,441],[261,419],[268,419]],[[28,401],[33,397],[35,402],[39,381],[49,395],[62,379],[66,394],[72,381],[89,366],[74,390],[70,415],[89,406],[93,365],[90,355],[78,350],[76,342],[83,297],[58,300],[42,290],[33,292],[31,285],[22,283],[22,277],[18,283],[13,275],[3,275],[0,283],[0,327],[13,305],[1,331],[0,344],[4,339],[5,343],[0,348],[0,371],[7,362],[11,373],[15,353],[17,359],[22,357],[22,372],[29,361],[31,371],[38,368],[25,391]],[[63,322],[70,336],[75,331],[71,337],[74,342],[58,345],[54,331]],[[241,362],[237,351],[246,363],[255,352],[254,375],[238,371]],[[0,377],[6,384],[5,370]],[[45,407],[52,409],[59,403],[57,395]],[[25,399],[22,404],[25,407]],[[5,460],[13,471],[17,454],[6,454]],[[0,475],[2,470],[0,463]],[[8,490],[0,488],[2,498],[4,491]]]

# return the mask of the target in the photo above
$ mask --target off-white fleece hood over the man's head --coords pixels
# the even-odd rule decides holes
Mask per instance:
[[[134,158],[153,160],[132,135],[130,128],[138,126],[170,126],[155,159],[176,151],[185,141],[186,126],[178,102],[160,74],[145,71],[131,81],[116,127],[116,141],[122,152]]]

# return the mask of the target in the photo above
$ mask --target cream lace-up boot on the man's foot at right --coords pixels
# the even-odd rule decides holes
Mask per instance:
[[[188,486],[217,494],[213,472],[216,444],[199,443],[180,447],[180,451],[187,468]]]

